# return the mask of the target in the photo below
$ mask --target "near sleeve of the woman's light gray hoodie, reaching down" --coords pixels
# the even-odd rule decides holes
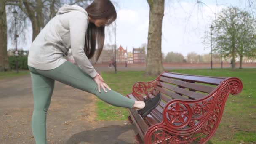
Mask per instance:
[[[97,72],[85,55],[85,35],[88,27],[88,17],[80,11],[72,11],[73,16],[69,19],[70,44],[75,62],[91,77]]]

